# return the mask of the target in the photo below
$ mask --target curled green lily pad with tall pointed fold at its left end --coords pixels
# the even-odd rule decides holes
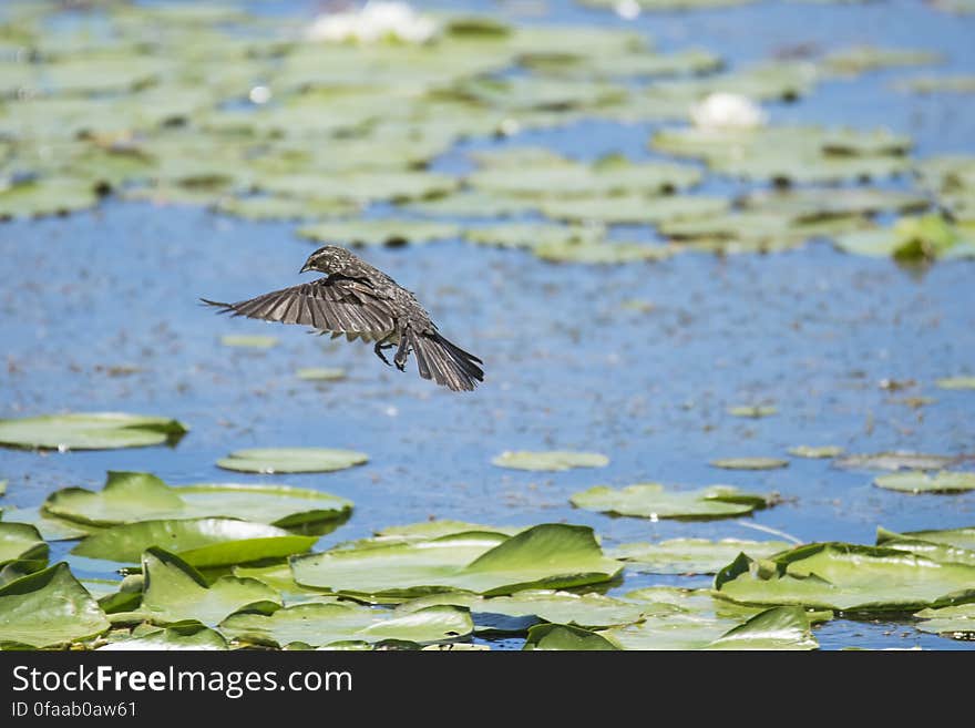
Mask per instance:
[[[207,584],[193,566],[155,546],[143,554],[142,573],[145,591],[136,614],[160,626],[189,619],[214,626],[242,609],[266,612],[281,604],[264,582],[220,576]]]

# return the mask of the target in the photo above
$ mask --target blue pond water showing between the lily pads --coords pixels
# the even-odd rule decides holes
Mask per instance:
[[[275,14],[307,17],[315,6],[281,4]],[[490,13],[517,9],[462,4]],[[831,50],[869,42],[936,50],[947,60],[933,72],[975,73],[975,17],[918,2],[759,2],[644,12],[633,21],[568,2],[544,7],[546,16],[519,22],[626,27],[664,50],[707,48],[731,68],[800,44]],[[269,12],[267,3],[254,8]],[[828,81],[796,103],[766,107],[772,123],[883,125],[909,134],[918,157],[975,152],[975,95],[921,96],[891,88],[893,79],[916,73]],[[466,142],[432,167],[463,172],[466,151],[521,144],[582,160],[613,152],[643,160],[658,156],[646,142],[660,126],[583,120]],[[742,188],[727,181],[705,186],[720,194]],[[386,211],[378,205],[369,214]],[[975,524],[973,492],[881,490],[872,485],[874,473],[842,470],[828,459],[793,458],[772,471],[709,465],[717,458],[788,458],[787,450],[800,444],[975,454],[975,393],[934,384],[975,373],[975,262],[911,268],[844,255],[827,242],[769,255],[685,254],[618,266],[552,264],[524,250],[461,240],[362,249],[362,257],[417,294],[448,338],[484,360],[483,386],[453,393],[412,368],[402,375],[382,366],[369,346],[216,317],[198,304],[201,296],[239,300],[307,279],[298,269],[312,247],[295,227],[114,197],[91,212],[0,225],[0,417],[117,410],[165,414],[192,428],[175,448],[0,450],[0,479],[10,483],[2,503],[34,506],[68,485],[98,490],[107,470],[148,471],[171,484],[286,483],[355,502],[352,517],[324,536],[319,550],[431,517],[585,524],[604,546],[770,537],[760,529],[803,542],[872,544],[878,526],[903,532]],[[626,235],[654,239],[648,228]],[[628,306],[633,300],[643,305]],[[256,334],[273,334],[279,345],[254,350],[219,342],[224,335]],[[348,377],[302,381],[296,371],[304,367],[341,367]],[[761,419],[727,412],[755,403],[771,403],[777,412]],[[336,473],[275,476],[215,465],[242,448],[297,445],[360,450],[370,461]],[[602,452],[610,463],[562,473],[491,464],[505,450],[546,449]],[[962,468],[971,469],[971,461]],[[726,483],[776,492],[782,502],[745,519],[702,522],[609,517],[568,502],[591,485],[646,481]],[[69,546],[57,544],[51,561]],[[76,564],[79,575],[111,575],[94,562]],[[627,573],[609,593],[709,583]],[[925,635],[909,621],[833,621],[814,634],[823,648],[975,647]],[[521,640],[494,646],[520,647]]]

